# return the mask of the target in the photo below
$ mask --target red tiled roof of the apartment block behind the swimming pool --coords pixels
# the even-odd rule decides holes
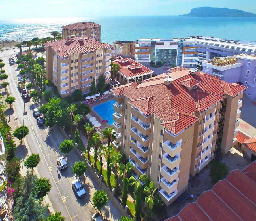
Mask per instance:
[[[78,41],[81,38],[83,41]],[[112,45],[101,43],[88,37],[72,37],[59,41],[46,42],[44,46],[51,47],[61,57],[70,56],[74,53],[90,52],[99,48],[112,47]]]

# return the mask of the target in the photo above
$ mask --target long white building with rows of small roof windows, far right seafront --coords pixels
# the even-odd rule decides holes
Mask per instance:
[[[234,56],[246,53],[256,55],[255,41],[227,40],[223,38],[189,36],[196,41],[198,61],[200,62],[216,57]]]

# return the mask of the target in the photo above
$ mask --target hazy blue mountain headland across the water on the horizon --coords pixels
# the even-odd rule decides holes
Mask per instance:
[[[256,14],[229,8],[200,7],[192,8],[186,17],[256,17]]]

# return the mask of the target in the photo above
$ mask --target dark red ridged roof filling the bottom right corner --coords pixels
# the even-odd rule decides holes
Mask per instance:
[[[217,182],[211,190],[166,221],[255,221],[256,179],[250,177],[255,172],[256,161],[242,172],[233,170],[225,180]]]

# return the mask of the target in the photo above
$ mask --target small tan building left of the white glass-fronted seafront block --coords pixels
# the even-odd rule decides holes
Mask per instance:
[[[114,54],[123,58],[134,58],[135,41],[115,41]]]

